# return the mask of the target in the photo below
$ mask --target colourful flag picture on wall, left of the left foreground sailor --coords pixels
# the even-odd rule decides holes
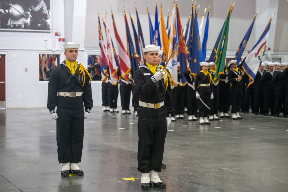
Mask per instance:
[[[52,69],[60,64],[60,54],[39,54],[39,81],[49,81]]]

